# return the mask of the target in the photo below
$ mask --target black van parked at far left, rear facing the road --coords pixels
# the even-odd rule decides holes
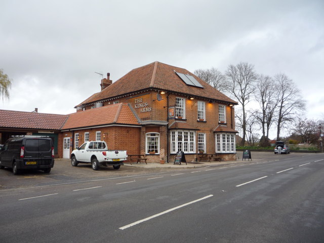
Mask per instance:
[[[51,138],[24,136],[6,141],[0,150],[0,168],[12,168],[17,175],[22,169],[50,173],[54,166],[54,145]]]

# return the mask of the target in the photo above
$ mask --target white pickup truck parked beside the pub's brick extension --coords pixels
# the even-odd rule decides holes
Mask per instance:
[[[118,170],[127,159],[126,150],[108,150],[104,141],[89,141],[74,149],[71,153],[71,164],[91,163],[92,169],[97,171],[99,166],[113,166]]]

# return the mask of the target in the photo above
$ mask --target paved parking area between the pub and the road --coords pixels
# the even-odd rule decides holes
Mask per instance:
[[[241,151],[237,152],[237,160],[234,161],[213,161],[199,164],[181,163],[181,165],[173,165],[173,161],[164,165],[145,163],[125,163],[119,170],[114,170],[111,166],[102,167],[98,171],[94,171],[90,164],[79,164],[77,167],[72,167],[69,159],[55,159],[54,168],[50,174],[45,174],[43,171],[28,170],[22,171],[20,175],[13,175],[11,169],[5,168],[0,170],[0,190],[28,187],[35,185],[55,184],[66,181],[82,181],[100,178],[112,178],[121,176],[132,176],[140,174],[158,173],[170,170],[179,169],[197,169],[201,167],[226,166],[236,163],[250,163],[251,160],[241,160]],[[251,152],[252,160],[266,161],[275,160],[289,156],[289,154],[274,154],[273,152]],[[239,159],[238,159],[239,158]]]

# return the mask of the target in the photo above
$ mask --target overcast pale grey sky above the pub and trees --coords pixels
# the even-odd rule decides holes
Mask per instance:
[[[0,109],[68,114],[130,70],[163,62],[196,69],[248,62],[287,74],[324,114],[323,0],[0,0]]]

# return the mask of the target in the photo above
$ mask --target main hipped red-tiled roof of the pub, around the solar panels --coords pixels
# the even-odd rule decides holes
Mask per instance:
[[[194,76],[204,89],[186,85],[175,71]],[[160,62],[153,62],[133,69],[101,92],[86,99],[82,104],[85,105],[149,88],[237,104],[236,101],[219,92],[188,70]]]

